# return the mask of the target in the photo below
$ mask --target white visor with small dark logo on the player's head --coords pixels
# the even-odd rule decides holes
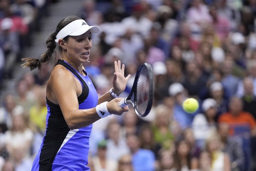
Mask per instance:
[[[59,39],[63,39],[66,36],[79,36],[87,32],[98,33],[99,28],[97,26],[88,26],[84,20],[75,20],[65,27],[63,27],[56,35],[55,42],[57,43]]]

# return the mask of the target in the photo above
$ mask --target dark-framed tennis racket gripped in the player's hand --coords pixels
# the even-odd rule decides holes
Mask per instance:
[[[153,103],[153,70],[150,64],[141,64],[135,75],[131,91],[119,102],[120,107],[131,104],[139,117],[145,117]]]

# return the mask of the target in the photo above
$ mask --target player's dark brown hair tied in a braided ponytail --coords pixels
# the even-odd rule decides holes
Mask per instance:
[[[24,68],[30,68],[30,70],[33,70],[35,68],[38,68],[38,70],[41,70],[41,64],[44,63],[44,62],[52,62],[53,59],[51,58],[51,56],[53,56],[54,54],[54,57],[56,57],[56,51],[55,51],[55,48],[56,48],[56,42],[55,42],[55,39],[56,39],[56,35],[57,33],[63,29],[66,25],[68,25],[69,23],[75,21],[75,20],[80,20],[81,18],[79,17],[76,17],[76,16],[69,16],[69,17],[66,17],[64,19],[62,19],[57,27],[56,27],[56,30],[55,32],[51,33],[45,44],[46,44],[46,51],[41,54],[40,58],[37,59],[37,58],[22,58],[21,61],[25,61],[24,64],[22,64],[21,66],[24,67]],[[65,38],[63,38],[65,41],[67,41],[68,39],[68,36],[66,36]],[[59,47],[59,51],[61,51],[62,49]]]

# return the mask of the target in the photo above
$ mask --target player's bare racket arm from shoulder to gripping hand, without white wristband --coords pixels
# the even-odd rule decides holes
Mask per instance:
[[[50,101],[60,106],[70,129],[85,127],[100,119],[95,108],[78,109],[77,95],[79,93],[81,93],[79,81],[64,67],[54,67],[48,81],[46,96]],[[128,111],[128,107],[120,108],[118,106],[119,100],[116,98],[107,103],[107,109],[110,113],[120,115],[124,111]]]

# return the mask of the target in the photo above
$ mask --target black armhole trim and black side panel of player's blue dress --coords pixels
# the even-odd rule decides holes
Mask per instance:
[[[77,99],[79,104],[82,103],[87,98],[89,93],[87,84],[83,81],[80,75],[64,61],[58,60],[56,65],[64,66],[81,81],[83,85],[82,92],[77,97]],[[52,169],[52,163],[57,154],[57,151],[59,150],[63,140],[70,130],[66,124],[59,105],[50,102],[47,98],[46,103],[50,110],[50,116],[48,118],[43,145],[39,156],[39,171],[50,171]]]

